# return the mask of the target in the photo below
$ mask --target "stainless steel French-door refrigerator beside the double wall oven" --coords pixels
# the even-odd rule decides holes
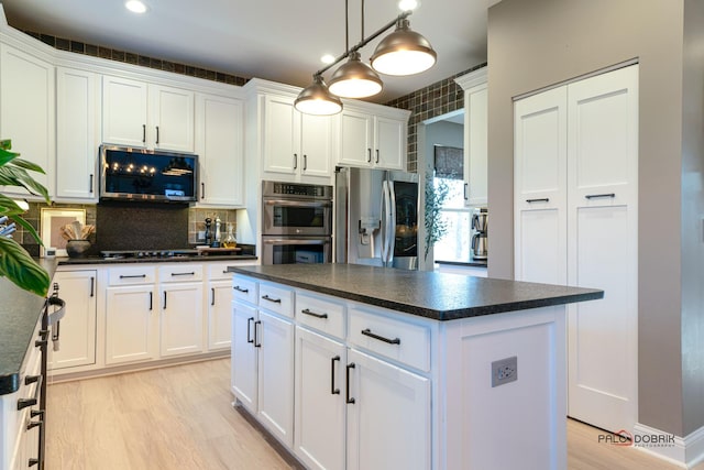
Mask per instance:
[[[339,168],[334,190],[334,261],[418,269],[418,175]]]

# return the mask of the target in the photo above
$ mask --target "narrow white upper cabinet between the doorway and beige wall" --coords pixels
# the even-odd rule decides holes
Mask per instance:
[[[468,207],[481,207],[488,204],[488,89],[486,72],[486,67],[484,67],[455,79],[464,90],[464,203]]]

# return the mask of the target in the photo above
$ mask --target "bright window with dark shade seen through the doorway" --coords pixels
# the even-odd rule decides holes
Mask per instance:
[[[436,261],[470,262],[472,209],[464,206],[464,152],[452,146],[435,146],[433,185],[447,185],[448,197],[441,217],[447,232],[435,248]]]

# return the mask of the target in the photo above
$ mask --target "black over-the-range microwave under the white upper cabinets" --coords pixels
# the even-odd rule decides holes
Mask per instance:
[[[100,199],[193,203],[198,155],[100,145]]]

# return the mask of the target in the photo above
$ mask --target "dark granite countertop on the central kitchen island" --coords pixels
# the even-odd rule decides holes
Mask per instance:
[[[358,264],[229,266],[229,271],[411,315],[453,320],[604,297],[591,288]]]

